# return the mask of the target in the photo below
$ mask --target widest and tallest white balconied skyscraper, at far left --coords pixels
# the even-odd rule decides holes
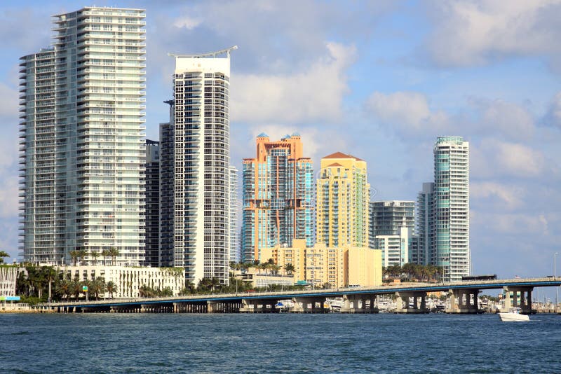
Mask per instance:
[[[55,15],[53,48],[20,62],[20,249],[144,256],[144,10]],[[88,256],[89,257],[89,256]]]

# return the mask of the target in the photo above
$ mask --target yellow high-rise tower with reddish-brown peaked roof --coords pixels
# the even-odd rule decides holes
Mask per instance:
[[[321,159],[316,239],[327,247],[368,247],[370,184],[366,161],[337,152]]]

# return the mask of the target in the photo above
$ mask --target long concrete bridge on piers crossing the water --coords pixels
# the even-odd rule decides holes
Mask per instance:
[[[292,300],[294,313],[328,312],[326,298],[343,298],[342,313],[375,313],[379,296],[396,296],[398,313],[426,313],[426,295],[444,291],[450,294],[449,313],[478,313],[478,293],[485,289],[506,291],[505,307],[520,307],[532,313],[534,287],[560,286],[561,277],[530,279],[496,279],[454,283],[410,283],[379,287],[321,289],[264,293],[215,293],[211,295],[174,296],[168,298],[78,300],[41,305],[55,312],[111,313],[276,313],[279,300]],[[511,297],[511,292],[513,293]],[[453,296],[453,297],[452,297]]]

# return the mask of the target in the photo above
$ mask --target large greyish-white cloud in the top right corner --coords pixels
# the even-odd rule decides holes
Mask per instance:
[[[486,64],[509,55],[561,53],[560,0],[434,1],[429,39],[433,60],[443,66]]]

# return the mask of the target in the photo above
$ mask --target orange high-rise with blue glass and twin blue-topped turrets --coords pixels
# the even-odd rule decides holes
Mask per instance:
[[[257,157],[243,160],[243,261],[266,261],[261,250],[313,245],[313,166],[298,133],[280,141],[257,136]]]

